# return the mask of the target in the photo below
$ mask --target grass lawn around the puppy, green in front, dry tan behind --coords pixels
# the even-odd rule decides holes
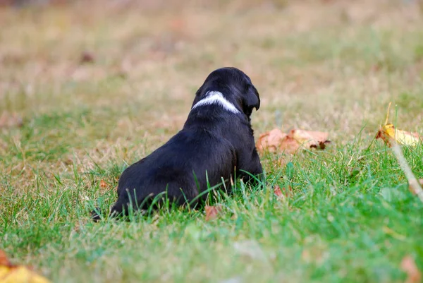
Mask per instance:
[[[422,133],[417,4],[224,3],[0,10],[0,249],[13,262],[54,282],[404,282],[405,255],[423,269],[423,204],[372,143],[390,101],[391,121]],[[268,186],[220,195],[211,222],[179,210],[90,222],[221,66],[260,92],[256,138],[297,127],[333,144],[281,165],[262,156]],[[404,151],[423,178],[422,145]],[[293,194],[275,198],[276,184]]]

